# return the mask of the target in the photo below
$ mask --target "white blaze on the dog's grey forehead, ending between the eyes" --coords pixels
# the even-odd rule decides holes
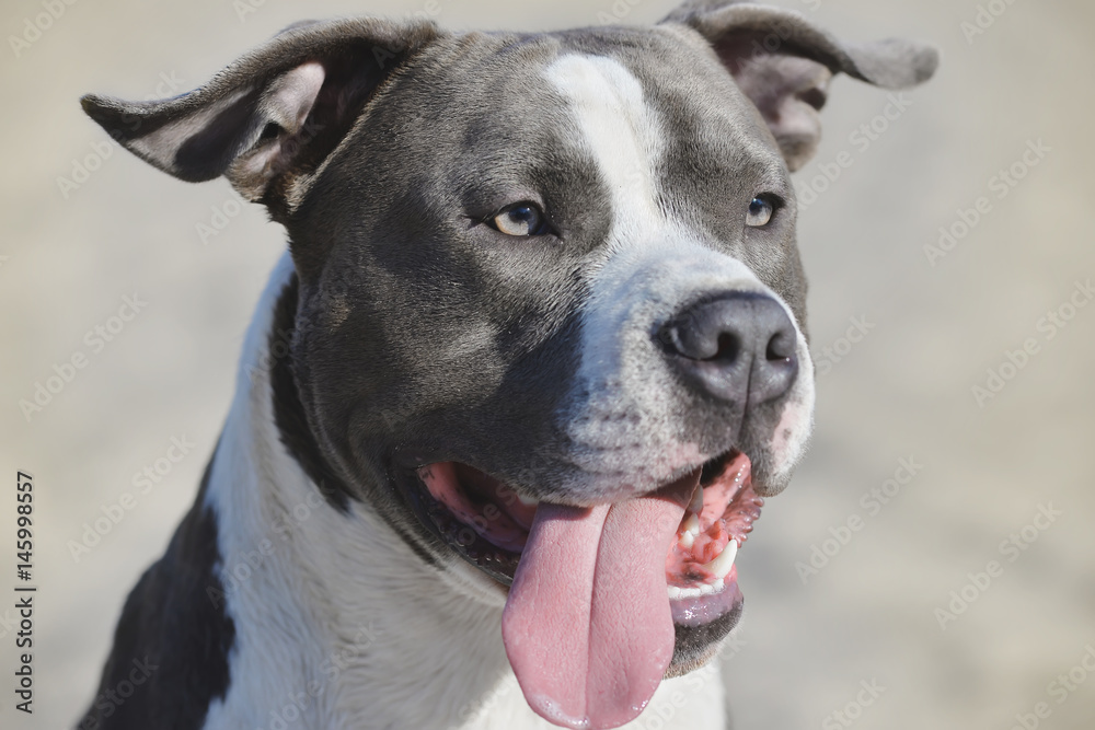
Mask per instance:
[[[561,56],[545,76],[575,116],[578,147],[593,157],[608,185],[612,242],[661,228],[654,184],[661,126],[638,79],[615,59],[578,54]]]

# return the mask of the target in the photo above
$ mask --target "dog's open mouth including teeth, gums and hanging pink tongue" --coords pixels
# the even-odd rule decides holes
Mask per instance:
[[[750,466],[730,451],[653,493],[579,508],[437,462],[417,470],[418,503],[453,549],[510,586],[503,638],[530,706],[555,725],[613,728],[737,622],[734,563],[763,505]]]

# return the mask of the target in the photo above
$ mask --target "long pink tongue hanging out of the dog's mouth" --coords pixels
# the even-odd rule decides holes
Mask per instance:
[[[599,730],[649,702],[673,654],[666,552],[699,479],[696,470],[656,495],[537,509],[502,636],[538,715]]]

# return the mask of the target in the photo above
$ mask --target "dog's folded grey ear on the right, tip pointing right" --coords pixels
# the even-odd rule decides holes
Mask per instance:
[[[792,171],[817,150],[818,111],[833,73],[906,89],[930,79],[938,66],[938,51],[927,44],[841,43],[800,13],[736,0],[692,0],[662,22],[688,25],[707,39],[760,111]]]

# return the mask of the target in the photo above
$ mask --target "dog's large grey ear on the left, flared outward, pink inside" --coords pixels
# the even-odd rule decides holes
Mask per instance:
[[[373,91],[437,37],[422,22],[298,23],[191,93],[157,102],[88,94],[81,103],[152,165],[191,182],[224,175],[279,218]]]

